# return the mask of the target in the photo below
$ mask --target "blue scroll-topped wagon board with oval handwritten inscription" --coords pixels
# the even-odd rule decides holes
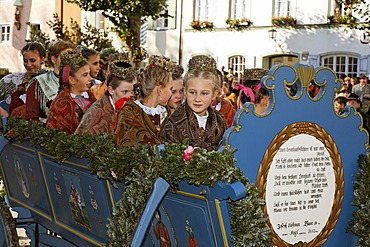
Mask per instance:
[[[297,95],[289,96],[286,93],[285,87],[287,83],[297,83]],[[314,98],[308,96],[307,90],[310,83],[321,86],[319,94]],[[227,130],[224,136],[224,144],[229,145],[231,148],[237,148],[235,152],[237,165],[251,182],[259,183],[262,193],[266,195],[268,191],[274,190],[273,186],[268,186],[268,184],[270,184],[269,182],[271,182],[270,180],[282,180],[280,176],[276,178],[268,176],[271,171],[276,172],[277,170],[275,167],[272,169],[269,166],[271,164],[276,164],[275,158],[277,154],[283,154],[282,150],[284,148],[280,149],[280,147],[283,147],[282,145],[284,143],[292,141],[293,137],[291,136],[293,135],[298,136],[302,140],[304,140],[304,138],[302,138],[304,134],[307,133],[310,133],[309,135],[312,137],[315,136],[317,139],[316,141],[330,151],[325,158],[335,163],[335,165],[328,167],[334,174],[333,178],[329,179],[328,184],[331,184],[335,194],[333,193],[331,195],[334,197],[333,208],[327,208],[327,210],[329,213],[337,215],[338,219],[337,221],[335,219],[328,220],[328,223],[326,223],[326,220],[322,220],[321,223],[326,223],[326,226],[331,225],[331,227],[333,227],[333,229],[331,229],[332,231],[329,229],[327,232],[315,232],[316,237],[311,241],[310,238],[304,237],[307,233],[310,234],[307,228],[303,226],[304,224],[301,224],[300,227],[295,227],[294,224],[289,226],[289,223],[298,223],[302,220],[299,214],[305,215],[309,214],[309,212],[307,210],[299,210],[296,214],[292,212],[291,215],[295,215],[296,218],[289,219],[291,222],[287,222],[285,219],[285,222],[288,223],[286,224],[288,230],[289,228],[291,230],[288,234],[299,232],[296,237],[287,237],[287,239],[289,239],[289,244],[293,244],[295,241],[299,240],[302,240],[303,243],[310,242],[308,246],[315,246],[315,241],[320,241],[320,239],[323,241],[322,243],[324,243],[323,246],[356,246],[356,237],[346,232],[346,227],[348,226],[349,220],[352,218],[351,214],[354,210],[352,206],[353,182],[355,180],[354,174],[358,169],[357,159],[359,154],[366,152],[368,140],[367,132],[360,127],[361,118],[359,114],[352,108],[347,109],[348,112],[345,115],[338,116],[335,114],[333,99],[335,97],[335,91],[338,90],[341,85],[333,71],[329,68],[313,68],[304,65],[296,65],[293,68],[291,66],[279,64],[270,69],[268,75],[262,78],[261,84],[264,88],[269,90],[271,97],[270,106],[266,111],[266,115],[256,116],[253,113],[254,106],[250,103],[246,103],[236,114],[236,126]],[[309,147],[310,144],[301,142],[294,147],[305,148],[306,146]],[[289,154],[284,155],[289,158]],[[309,163],[308,167],[311,167],[312,164],[313,163]],[[286,167],[281,169],[282,176],[284,176],[284,173],[287,174],[290,172],[289,170],[291,169],[293,168],[288,169],[288,167]],[[304,175],[307,170],[308,169],[297,168],[296,175]],[[328,170],[326,170],[326,172],[327,171]],[[320,185],[321,183],[318,182],[312,183],[312,186]],[[276,184],[276,187],[278,186],[281,186],[279,182]],[[299,188],[297,185],[291,187],[281,186],[281,191],[294,190],[297,188]],[[315,188],[312,189],[313,190],[310,188],[309,193],[315,190]],[[341,195],[337,195],[337,191],[339,190],[341,190]],[[340,193],[338,192],[338,194]],[[298,198],[299,196],[296,197]],[[304,197],[304,193],[301,197]],[[277,210],[279,209],[278,206],[275,205],[278,205],[277,202],[279,201],[278,199],[282,199],[281,196],[274,195],[271,198],[266,196],[265,199],[267,200],[266,208],[275,207]],[[304,202],[305,200],[303,199],[302,201]],[[318,201],[320,201],[318,206],[320,206],[320,204],[325,205],[325,202],[328,202],[328,205],[330,203],[329,198],[323,198]],[[272,205],[272,202],[274,202],[275,205]],[[298,199],[297,202],[299,202]],[[292,209],[293,208],[294,207],[292,207]],[[311,218],[315,218],[317,215],[324,216],[324,214],[324,212],[312,211]],[[270,215],[267,216],[270,221],[271,219],[275,221],[279,219],[278,213],[271,214],[270,212]],[[310,220],[311,219],[308,218],[307,222],[310,222]],[[274,225],[273,223],[271,224]],[[280,224],[280,228],[286,225]],[[278,228],[279,226],[275,224],[272,230],[281,232],[281,229]],[[312,231],[312,229],[310,230]],[[284,234],[274,235],[276,245],[285,244],[283,243],[285,241],[284,237],[286,237]],[[277,244],[278,242],[279,244]]]

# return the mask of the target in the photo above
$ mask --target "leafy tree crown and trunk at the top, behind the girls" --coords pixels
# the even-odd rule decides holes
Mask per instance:
[[[151,16],[153,19],[166,8],[166,0],[67,0],[86,11],[102,11],[115,26],[118,37],[126,42],[135,63],[141,62],[146,52],[140,46],[140,27]]]

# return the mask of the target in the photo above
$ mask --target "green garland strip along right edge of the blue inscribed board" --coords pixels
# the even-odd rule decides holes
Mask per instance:
[[[358,164],[352,203],[358,209],[352,213],[354,219],[347,230],[359,238],[359,247],[366,247],[370,246],[370,153],[361,155]]]

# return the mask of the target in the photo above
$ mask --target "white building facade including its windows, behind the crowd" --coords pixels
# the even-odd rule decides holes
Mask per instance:
[[[169,0],[168,6],[162,18],[149,21],[145,46],[184,67],[192,56],[208,54],[239,76],[244,68],[277,63],[325,65],[348,76],[370,73],[370,44],[360,42],[361,31],[338,23],[355,17],[335,0]],[[227,19],[253,24],[235,31]],[[213,22],[214,28],[197,31],[194,20]]]

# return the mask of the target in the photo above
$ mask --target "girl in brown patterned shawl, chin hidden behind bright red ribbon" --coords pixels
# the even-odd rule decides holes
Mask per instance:
[[[84,114],[75,134],[107,133],[113,138],[116,113],[134,96],[136,69],[127,53],[117,53],[110,61],[108,89]]]

